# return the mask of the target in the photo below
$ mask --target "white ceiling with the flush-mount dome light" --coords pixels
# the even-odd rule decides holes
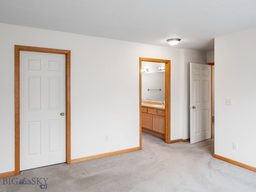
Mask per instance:
[[[211,51],[214,37],[256,27],[256,1],[0,0],[0,23]]]

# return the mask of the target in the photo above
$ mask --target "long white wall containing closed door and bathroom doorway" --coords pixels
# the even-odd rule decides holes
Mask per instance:
[[[14,170],[15,44],[71,50],[72,159],[139,146],[139,57],[171,60],[171,138],[181,138],[182,50],[8,24],[0,42],[0,173]]]

